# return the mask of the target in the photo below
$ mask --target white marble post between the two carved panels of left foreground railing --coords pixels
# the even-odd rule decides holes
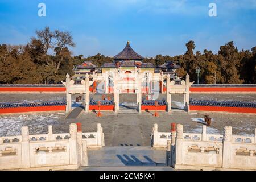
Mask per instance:
[[[30,140],[28,126],[22,127],[22,168],[30,168]]]

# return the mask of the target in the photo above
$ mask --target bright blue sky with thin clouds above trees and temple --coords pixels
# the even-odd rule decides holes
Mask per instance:
[[[46,4],[46,17],[38,4]],[[216,3],[217,17],[208,15]],[[256,0],[0,0],[0,44],[26,44],[36,29],[71,31],[74,55],[114,56],[130,40],[144,57],[180,55],[194,40],[196,51],[217,52],[233,40],[256,46]]]

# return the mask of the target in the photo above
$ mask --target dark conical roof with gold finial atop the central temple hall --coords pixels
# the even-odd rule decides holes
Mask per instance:
[[[129,41],[127,41],[125,48],[120,53],[118,53],[118,55],[115,55],[113,59],[114,60],[143,60],[144,57],[142,57],[137,52],[135,52],[131,48]]]

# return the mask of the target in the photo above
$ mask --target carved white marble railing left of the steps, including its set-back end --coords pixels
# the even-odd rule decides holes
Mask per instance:
[[[29,135],[22,127],[22,135],[0,137],[0,170],[2,169],[77,169],[88,166],[87,148],[105,145],[100,124],[96,132],[77,131],[69,126],[69,133]]]

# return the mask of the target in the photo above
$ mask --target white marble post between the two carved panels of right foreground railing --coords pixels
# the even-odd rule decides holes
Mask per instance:
[[[222,167],[230,168],[231,157],[231,144],[232,144],[232,127],[225,126],[224,128],[224,140],[223,140],[223,153],[222,153]]]

